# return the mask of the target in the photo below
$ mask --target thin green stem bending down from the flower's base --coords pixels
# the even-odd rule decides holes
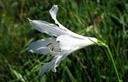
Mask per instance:
[[[116,65],[115,65],[115,61],[114,61],[114,59],[113,59],[112,52],[111,52],[110,48],[108,47],[108,45],[106,45],[106,44],[103,43],[102,41],[98,41],[97,44],[100,45],[100,46],[104,46],[104,47],[107,48],[107,52],[108,52],[109,57],[110,57],[110,59],[111,59],[111,61],[112,61],[112,64],[113,64],[113,67],[114,67],[116,76],[117,76],[117,78],[118,78],[118,81],[119,81],[119,82],[122,82],[122,80],[121,80],[120,77],[119,77],[119,74],[118,74],[118,71],[117,71],[117,68],[116,68]]]

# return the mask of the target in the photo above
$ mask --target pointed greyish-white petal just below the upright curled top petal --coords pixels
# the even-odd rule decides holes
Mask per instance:
[[[65,31],[64,29],[59,28],[57,25],[55,24],[51,24],[45,21],[41,21],[41,20],[30,20],[31,25],[33,26],[33,28],[35,28],[36,30],[46,33],[48,35],[51,36],[59,36],[59,35],[63,35],[63,34],[68,34],[67,31]]]

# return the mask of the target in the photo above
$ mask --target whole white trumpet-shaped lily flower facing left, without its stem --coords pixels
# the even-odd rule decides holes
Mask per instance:
[[[56,24],[29,19],[31,25],[36,30],[56,37],[32,42],[28,47],[28,50],[32,53],[44,55],[51,54],[54,56],[51,62],[48,62],[41,67],[39,75],[43,75],[50,69],[53,69],[53,71],[56,72],[56,67],[70,53],[97,42],[97,39],[94,37],[78,35],[61,25],[56,19],[57,11],[57,5],[53,5],[49,11]]]

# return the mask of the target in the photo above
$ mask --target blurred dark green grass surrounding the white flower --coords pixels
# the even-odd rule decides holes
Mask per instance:
[[[27,45],[48,37],[29,24],[27,18],[54,23],[49,14],[59,6],[57,18],[68,29],[106,42],[118,73],[128,82],[127,0],[0,0],[0,82],[117,82],[104,47],[88,46],[69,55],[57,68],[38,76],[51,56],[31,54]]]

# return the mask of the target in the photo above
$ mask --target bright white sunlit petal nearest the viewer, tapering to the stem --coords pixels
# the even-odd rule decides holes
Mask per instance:
[[[60,48],[67,51],[75,51],[83,47],[95,44],[97,42],[96,38],[93,37],[74,37],[70,35],[61,35],[57,37],[56,41],[59,41]]]

